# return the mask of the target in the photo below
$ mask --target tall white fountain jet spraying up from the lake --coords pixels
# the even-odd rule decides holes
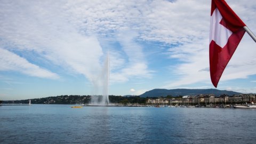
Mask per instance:
[[[95,79],[97,81],[93,82],[94,94],[91,97],[91,105],[95,106],[106,106],[109,104],[108,99],[108,85],[109,85],[109,53],[103,63],[102,69]]]

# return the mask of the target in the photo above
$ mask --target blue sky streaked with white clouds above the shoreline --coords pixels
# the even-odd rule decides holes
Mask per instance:
[[[0,0],[0,99],[215,89],[210,0]],[[256,33],[256,2],[227,0]],[[219,90],[256,93],[256,43],[245,34]],[[106,72],[105,72],[106,71]]]

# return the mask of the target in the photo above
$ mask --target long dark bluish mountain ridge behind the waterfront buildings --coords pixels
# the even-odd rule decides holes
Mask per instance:
[[[166,97],[167,95],[172,95],[173,97],[177,97],[179,95],[198,95],[198,94],[214,94],[214,95],[234,95],[234,94],[242,94],[234,91],[226,91],[226,90],[217,90],[217,89],[154,89],[147,91],[140,95],[142,98],[152,98],[152,97]]]

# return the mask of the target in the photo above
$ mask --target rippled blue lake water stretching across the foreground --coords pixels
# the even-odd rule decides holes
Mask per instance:
[[[256,109],[0,106],[0,143],[256,143]]]

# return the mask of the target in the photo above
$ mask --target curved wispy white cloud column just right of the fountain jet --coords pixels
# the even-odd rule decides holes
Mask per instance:
[[[111,73],[110,81],[125,82],[133,77],[145,78],[151,76],[152,71],[148,70],[142,46],[134,42],[134,38],[137,35],[133,31],[127,30],[119,31],[117,34],[118,42],[126,54],[127,61],[125,67]]]

